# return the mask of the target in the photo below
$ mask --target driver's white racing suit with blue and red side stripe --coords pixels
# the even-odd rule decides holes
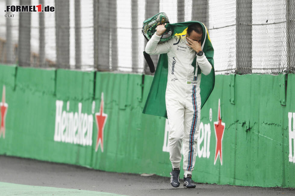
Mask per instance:
[[[205,54],[196,52],[185,43],[186,35],[173,36],[169,41],[158,44],[160,36],[154,34],[147,42],[145,52],[151,55],[167,53],[168,81],[166,88],[166,110],[169,132],[169,151],[172,168],[180,167],[181,145],[183,142],[183,170],[185,177],[194,170],[197,151],[197,137],[200,126],[200,81],[198,65],[203,74],[208,75],[212,65]],[[197,68],[191,65],[197,56]]]

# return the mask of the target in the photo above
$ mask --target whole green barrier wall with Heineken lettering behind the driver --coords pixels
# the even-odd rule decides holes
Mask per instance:
[[[169,125],[142,114],[152,79],[0,65],[8,106],[0,154],[169,176]],[[217,75],[201,111],[193,179],[295,187],[294,84],[294,74]]]

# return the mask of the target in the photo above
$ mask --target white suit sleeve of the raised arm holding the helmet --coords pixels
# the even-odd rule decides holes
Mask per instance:
[[[147,54],[165,54],[171,50],[172,39],[159,44],[160,38],[161,36],[156,35],[156,33],[151,37],[145,46],[145,52]]]

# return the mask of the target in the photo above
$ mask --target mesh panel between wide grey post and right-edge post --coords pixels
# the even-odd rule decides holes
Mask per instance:
[[[287,66],[286,2],[253,1],[252,10],[252,73],[281,73]]]

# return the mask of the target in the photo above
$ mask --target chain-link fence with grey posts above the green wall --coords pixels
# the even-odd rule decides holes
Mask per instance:
[[[141,26],[165,12],[206,25],[216,74],[295,73],[293,0],[0,0],[4,10],[39,4],[54,11],[2,12],[1,63],[151,74]]]

